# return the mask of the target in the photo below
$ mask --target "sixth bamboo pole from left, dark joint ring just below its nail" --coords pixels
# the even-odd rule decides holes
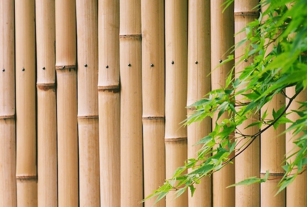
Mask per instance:
[[[98,34],[100,199],[120,207],[119,0],[98,1]]]

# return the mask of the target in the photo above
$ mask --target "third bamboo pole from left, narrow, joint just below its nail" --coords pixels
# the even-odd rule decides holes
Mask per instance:
[[[54,1],[36,0],[38,206],[57,206]]]

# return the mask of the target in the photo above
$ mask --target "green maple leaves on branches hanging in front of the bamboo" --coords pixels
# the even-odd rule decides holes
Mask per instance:
[[[227,0],[225,5],[232,2],[233,0]],[[241,31],[246,34],[246,38],[234,47],[235,50],[239,46],[247,45],[245,54],[237,64],[248,60],[251,65],[239,72],[238,78],[233,78],[232,69],[225,88],[209,92],[206,98],[190,106],[194,107],[195,111],[188,116],[185,125],[202,121],[207,116],[218,115],[212,132],[196,143],[202,145],[197,158],[187,160],[172,178],[146,199],[157,196],[158,201],[171,190],[175,190],[178,197],[187,188],[191,189],[193,195],[195,184],[199,184],[201,178],[210,176],[231,163],[261,133],[270,127],[277,129],[283,123],[291,123],[286,131],[292,131],[293,136],[303,135],[293,139],[295,150],[291,155],[287,155],[284,161],[285,172],[278,192],[298,174],[307,170],[307,101],[301,103],[297,111],[291,112],[300,116],[298,120],[292,122],[286,118],[286,110],[295,97],[307,87],[307,1],[263,0],[259,8],[263,5],[268,5],[268,8],[263,13],[260,12],[259,18]],[[262,21],[263,17],[267,18],[266,21]],[[271,48],[269,45],[272,44],[273,49],[268,51]],[[222,64],[233,58],[233,55],[230,55]],[[285,89],[292,86],[295,87],[296,93],[288,97]],[[268,112],[263,106],[277,94],[284,95],[288,99],[287,104]],[[243,95],[244,98],[237,99],[238,95]],[[261,117],[260,109],[264,111]],[[228,113],[230,118],[221,120],[224,113]],[[272,120],[266,118],[269,114],[273,115]],[[258,118],[255,119],[255,116]],[[238,130],[238,126],[248,119],[253,119],[254,122],[247,128],[259,127],[259,132],[255,135],[244,135]],[[241,147],[237,145],[238,139],[244,142]],[[236,152],[235,156],[233,152]],[[184,174],[189,168],[192,170]],[[247,178],[238,184],[265,182],[268,175],[269,172],[262,179]]]

